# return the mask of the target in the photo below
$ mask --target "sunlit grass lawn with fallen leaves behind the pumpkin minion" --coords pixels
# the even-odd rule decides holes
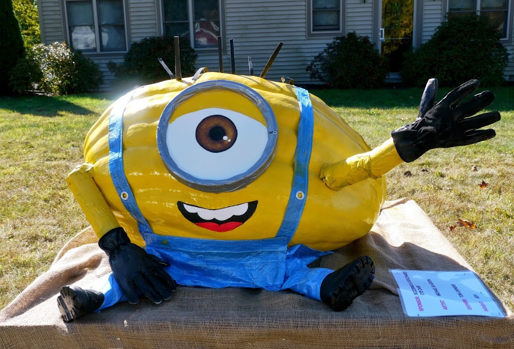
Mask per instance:
[[[413,121],[421,89],[311,91],[374,147]],[[440,90],[442,98],[447,90]],[[476,272],[514,308],[514,88],[494,89],[497,137],[437,149],[388,178],[388,199],[414,199]],[[65,177],[82,163],[87,130],[114,95],[0,98],[0,308],[88,224]],[[475,167],[473,167],[475,166]],[[474,168],[476,170],[474,170]],[[410,171],[411,177],[403,175]],[[482,181],[489,183],[480,189]],[[457,219],[477,228],[458,226]],[[455,226],[453,231],[450,227]]]

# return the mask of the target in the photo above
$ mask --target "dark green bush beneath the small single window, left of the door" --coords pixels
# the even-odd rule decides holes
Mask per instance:
[[[368,36],[355,32],[335,37],[306,69],[310,79],[334,88],[375,88],[383,84],[388,65]]]

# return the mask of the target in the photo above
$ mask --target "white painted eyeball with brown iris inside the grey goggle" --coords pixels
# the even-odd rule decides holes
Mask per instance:
[[[166,132],[168,151],[178,168],[203,180],[226,180],[248,171],[267,142],[262,123],[220,108],[182,115]]]

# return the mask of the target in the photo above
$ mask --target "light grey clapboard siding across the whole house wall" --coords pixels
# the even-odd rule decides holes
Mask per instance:
[[[161,0],[126,0],[125,13],[128,16],[128,38],[131,43],[139,42],[144,37],[161,35]],[[222,0],[223,1],[223,0]],[[307,0],[308,1],[308,0]],[[308,14],[306,0],[260,0],[259,2],[246,2],[244,0],[224,1],[224,70],[230,71],[229,40],[234,39],[236,71],[240,74],[249,73],[248,56],[252,59],[254,73],[259,75],[264,69],[271,53],[280,41],[284,46],[268,71],[266,78],[280,81],[282,76],[295,80],[296,84],[312,84],[305,68],[314,57],[325,49],[326,44],[332,42],[333,37],[307,35]],[[359,35],[369,36],[372,40],[378,32],[374,25],[374,8],[379,9],[379,0],[343,0],[345,17],[343,32],[355,31]],[[67,40],[64,27],[64,13],[62,0],[38,0],[40,13],[40,26],[42,41],[50,44],[56,41]],[[421,43],[426,43],[443,21],[443,8],[446,0],[433,0],[423,2],[421,15]],[[378,10],[380,11],[380,10]],[[513,33],[514,34],[514,33]],[[514,44],[505,45],[509,52],[509,66],[505,70],[506,79],[514,81]],[[206,67],[210,71],[218,70],[218,56],[216,50],[196,50],[198,59],[196,68]],[[113,61],[120,63],[123,53],[120,54],[89,54],[95,63],[104,72],[104,85],[108,89],[113,80],[113,74],[107,69],[107,63]],[[170,64],[168,62],[168,64]]]

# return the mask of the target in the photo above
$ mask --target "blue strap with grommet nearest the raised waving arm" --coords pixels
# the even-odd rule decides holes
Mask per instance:
[[[313,149],[314,133],[314,113],[313,105],[310,103],[309,92],[295,86],[295,93],[300,103],[300,122],[298,124],[295,150],[295,174],[293,175],[286,213],[277,232],[277,237],[285,237],[288,239],[288,242],[295,235],[300,218],[302,218],[305,201],[307,200],[308,170],[310,152]]]

